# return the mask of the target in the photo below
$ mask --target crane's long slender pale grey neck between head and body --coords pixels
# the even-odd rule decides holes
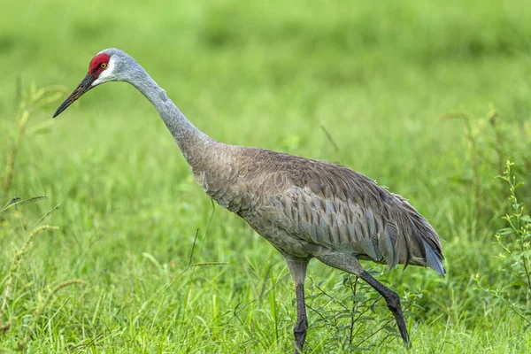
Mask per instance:
[[[134,79],[129,80],[129,83],[142,92],[143,96],[146,96],[150,103],[155,106],[160,118],[164,120],[165,126],[173,135],[173,139],[179,145],[190,167],[194,169],[196,165],[201,165],[205,150],[215,141],[194,126],[181,113],[179,108],[166,95],[165,90],[161,89],[157,82],[151,79],[142,66],[138,65]]]

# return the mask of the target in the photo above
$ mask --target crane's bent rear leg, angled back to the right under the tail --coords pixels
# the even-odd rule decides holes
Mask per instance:
[[[324,256],[319,256],[318,259],[327,266],[333,266],[342,271],[356,274],[358,277],[366,281],[373,289],[378,291],[385,299],[389,310],[393,313],[396,319],[396,326],[400,331],[404,345],[409,348],[412,346],[409,335],[407,334],[407,327],[405,327],[404,314],[402,313],[402,306],[400,305],[400,296],[391,289],[386,288],[380,281],[377,281],[373,276],[363,269],[359,264],[357,258],[344,253],[333,253]]]

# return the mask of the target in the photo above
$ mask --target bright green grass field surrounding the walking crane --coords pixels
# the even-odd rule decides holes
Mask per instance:
[[[515,203],[495,179],[514,162],[531,208],[527,1],[50,0],[0,12],[0,207],[48,196],[0,213],[0,352],[292,350],[281,255],[212,208],[147,100],[113,83],[51,119],[108,47],[213,138],[339,162],[410,199],[441,236],[447,276],[364,265],[402,297],[411,352],[531,352],[528,212],[520,235],[504,228]],[[54,102],[29,102],[52,85],[65,88]],[[33,235],[13,266],[37,223],[58,229]],[[355,277],[314,261],[306,294],[305,352],[405,352]]]

